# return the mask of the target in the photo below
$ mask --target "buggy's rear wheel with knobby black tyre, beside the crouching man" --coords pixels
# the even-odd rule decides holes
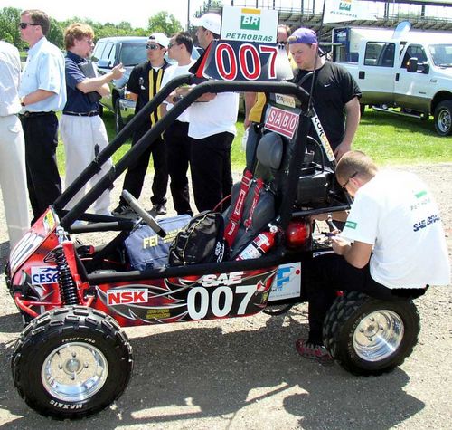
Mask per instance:
[[[353,375],[381,375],[400,366],[418,343],[419,313],[412,301],[381,301],[346,292],[328,311],[324,344]]]

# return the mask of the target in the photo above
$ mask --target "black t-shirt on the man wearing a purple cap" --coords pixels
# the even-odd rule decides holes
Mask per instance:
[[[309,73],[299,70],[294,82],[298,84]],[[301,85],[307,92],[311,92],[312,77]],[[337,148],[344,139],[345,103],[353,97],[361,98],[361,90],[352,75],[342,66],[334,62],[325,64],[315,71],[314,108],[325,130],[326,137],[333,149]],[[318,140],[314,127],[311,125],[309,136]]]

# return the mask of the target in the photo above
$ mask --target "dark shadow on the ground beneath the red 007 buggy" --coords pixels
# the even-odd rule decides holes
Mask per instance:
[[[287,316],[272,317],[257,330],[250,318],[246,331],[227,332],[231,325],[223,332],[221,327],[174,324],[173,331],[131,339],[136,366],[124,395],[99,415],[65,427],[186,428],[188,421],[195,428],[196,420],[216,417],[221,428],[232,420],[240,428],[240,410],[246,407],[246,415],[257,420],[254,428],[263,428],[272,410],[262,408],[273,406],[273,413],[296,417],[306,429],[387,429],[424,407],[403,390],[409,377],[400,368],[381,377],[353,377],[337,365],[300,358],[294,344],[306,335],[307,326],[294,320],[292,312],[297,311],[287,314],[289,324]],[[11,348],[2,346],[4,362]],[[1,407],[18,416],[3,428],[61,428],[24,404],[13,387],[9,363],[3,368]]]

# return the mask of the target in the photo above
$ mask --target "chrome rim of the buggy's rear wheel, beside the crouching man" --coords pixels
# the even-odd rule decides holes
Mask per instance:
[[[394,311],[375,311],[360,321],[353,333],[353,348],[359,358],[381,361],[390,357],[403,339],[404,325]]]

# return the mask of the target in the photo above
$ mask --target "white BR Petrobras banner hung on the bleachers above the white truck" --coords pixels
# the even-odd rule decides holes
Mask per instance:
[[[371,14],[367,2],[359,0],[325,0],[324,23],[342,23],[357,19],[377,19]]]

